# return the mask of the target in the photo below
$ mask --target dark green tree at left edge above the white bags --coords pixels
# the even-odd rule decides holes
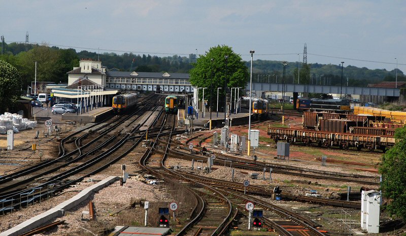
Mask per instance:
[[[21,76],[18,70],[0,60],[0,112],[4,113],[8,107],[13,106],[20,96]]]

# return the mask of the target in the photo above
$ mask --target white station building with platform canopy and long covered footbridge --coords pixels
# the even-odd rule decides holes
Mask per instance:
[[[51,94],[59,100],[76,103],[79,99],[101,96],[104,105],[119,92],[163,91],[193,92],[188,73],[136,72],[109,70],[101,61],[82,59],[79,67],[68,71],[66,85],[52,85]]]

